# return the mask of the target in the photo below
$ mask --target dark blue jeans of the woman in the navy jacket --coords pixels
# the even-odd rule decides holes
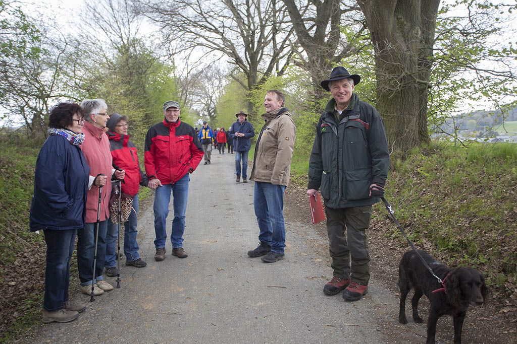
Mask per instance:
[[[63,305],[68,302],[70,259],[72,259],[77,230],[43,230],[43,234],[47,243],[43,308],[52,311],[63,308]]]

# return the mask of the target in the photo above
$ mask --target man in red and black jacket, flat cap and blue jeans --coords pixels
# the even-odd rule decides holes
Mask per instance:
[[[179,104],[163,104],[163,122],[149,128],[145,137],[144,165],[149,178],[148,187],[155,192],[155,260],[165,259],[165,225],[169,213],[171,192],[174,202],[172,221],[172,254],[186,258],[183,249],[185,212],[189,192],[189,173],[194,172],[203,158],[203,148],[195,130],[179,120]]]

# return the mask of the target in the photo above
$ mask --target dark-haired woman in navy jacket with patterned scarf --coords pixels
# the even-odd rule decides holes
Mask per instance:
[[[68,300],[70,259],[75,235],[84,227],[90,168],[80,144],[84,112],[78,104],[59,103],[50,111],[49,138],[36,161],[31,231],[43,231],[47,268],[43,322],[68,322],[86,306]]]

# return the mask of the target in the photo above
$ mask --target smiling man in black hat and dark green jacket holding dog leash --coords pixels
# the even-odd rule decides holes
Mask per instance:
[[[383,120],[354,93],[360,80],[359,75],[336,67],[321,83],[332,99],[316,127],[307,190],[309,196],[320,190],[325,202],[334,272],[323,292],[335,295],[344,289],[347,301],[357,301],[368,292],[366,230],[372,205],[384,195],[389,167]]]

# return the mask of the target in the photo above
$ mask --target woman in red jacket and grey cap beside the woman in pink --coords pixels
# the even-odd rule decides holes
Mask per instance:
[[[138,224],[138,190],[139,186],[147,186],[147,176],[140,170],[138,154],[133,142],[129,141],[128,119],[114,113],[110,116],[107,123],[108,138],[110,139],[111,156],[113,157],[113,168],[126,171],[124,183],[122,183],[122,193],[133,196],[133,209],[126,223],[124,223],[124,254],[126,255],[126,265],[143,268],[147,265],[138,253],[139,246],[136,242],[136,226]],[[117,275],[117,265],[115,261],[115,243],[117,240],[118,224],[110,221],[108,224],[108,234],[106,236],[106,261],[105,268],[108,276]]]

